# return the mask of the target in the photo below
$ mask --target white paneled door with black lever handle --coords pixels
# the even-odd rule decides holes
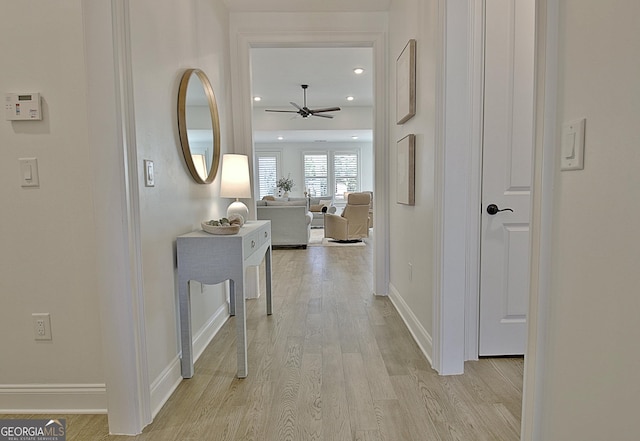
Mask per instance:
[[[481,356],[524,354],[529,299],[534,0],[487,0]]]

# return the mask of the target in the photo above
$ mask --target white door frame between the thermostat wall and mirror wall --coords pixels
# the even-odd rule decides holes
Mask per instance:
[[[109,432],[151,422],[127,0],[83,0],[87,122]]]

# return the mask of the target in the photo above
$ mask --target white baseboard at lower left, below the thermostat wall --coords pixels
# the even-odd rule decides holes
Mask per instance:
[[[0,413],[107,413],[107,387],[101,384],[0,384]]]

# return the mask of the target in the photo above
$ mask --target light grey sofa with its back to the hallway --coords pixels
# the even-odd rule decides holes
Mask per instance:
[[[306,198],[299,200],[257,201],[260,220],[271,221],[271,245],[307,248],[313,215],[307,210]]]

